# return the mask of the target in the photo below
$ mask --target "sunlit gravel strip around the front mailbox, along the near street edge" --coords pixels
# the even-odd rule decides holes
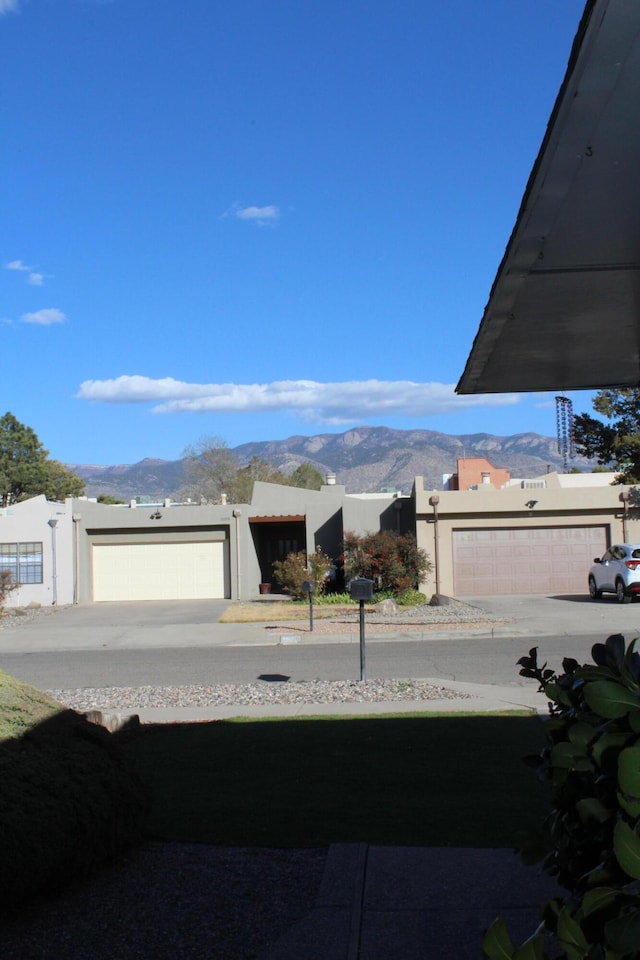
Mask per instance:
[[[47,690],[73,710],[140,710],[147,707],[268,706],[274,703],[382,703],[404,700],[465,700],[466,694],[423,680],[262,681],[179,687],[84,687]]]

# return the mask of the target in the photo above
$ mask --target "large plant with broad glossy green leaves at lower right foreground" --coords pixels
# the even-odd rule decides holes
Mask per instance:
[[[551,788],[551,811],[519,844],[525,863],[567,890],[514,948],[498,919],[484,938],[491,960],[640,958],[640,654],[620,634],[593,663],[563,660],[557,675],[537,648],[518,663],[549,700],[547,744],[527,758]],[[547,952],[551,951],[551,952]]]

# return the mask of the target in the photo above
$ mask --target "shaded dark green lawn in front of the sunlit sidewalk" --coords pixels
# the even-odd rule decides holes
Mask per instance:
[[[228,845],[509,846],[546,810],[522,758],[523,716],[218,721],[127,745],[151,791],[151,835]]]

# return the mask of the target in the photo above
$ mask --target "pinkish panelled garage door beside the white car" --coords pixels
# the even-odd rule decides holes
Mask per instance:
[[[585,593],[594,557],[607,549],[606,526],[454,530],[456,596]]]

